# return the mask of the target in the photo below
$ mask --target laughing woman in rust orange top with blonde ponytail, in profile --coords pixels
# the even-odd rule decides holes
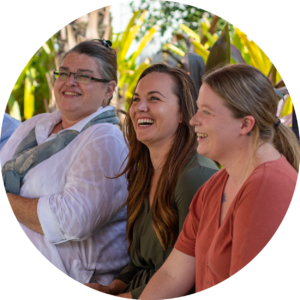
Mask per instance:
[[[191,124],[198,153],[224,168],[195,195],[174,250],[141,300],[177,299],[194,284],[196,293],[209,290],[241,272],[276,235],[300,171],[299,142],[276,118],[277,103],[254,67],[205,75]]]

